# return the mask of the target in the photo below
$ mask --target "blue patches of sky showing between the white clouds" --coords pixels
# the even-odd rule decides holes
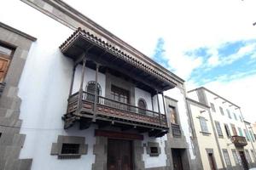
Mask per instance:
[[[218,60],[209,63],[214,57],[212,50],[216,51]],[[230,82],[234,79],[256,75],[256,39],[224,42],[218,48],[210,47],[189,49],[183,53],[190,58],[201,59],[201,65],[193,69],[185,81],[196,82],[196,86],[204,86],[207,82]],[[160,65],[174,71],[174,65],[168,64],[164,38],[160,37],[156,43],[153,57]]]

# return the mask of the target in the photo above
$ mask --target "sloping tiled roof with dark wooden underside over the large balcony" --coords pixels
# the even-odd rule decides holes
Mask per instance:
[[[87,58],[102,65],[108,65],[113,70],[126,73],[127,76],[137,79],[137,82],[142,80],[143,84],[160,92],[174,88],[178,83],[183,84],[181,78],[167,71],[152,59],[129,54],[124,49],[108,42],[104,37],[96,36],[80,28],[74,31],[60,48],[63,54],[74,60],[78,60],[79,56],[85,52]]]

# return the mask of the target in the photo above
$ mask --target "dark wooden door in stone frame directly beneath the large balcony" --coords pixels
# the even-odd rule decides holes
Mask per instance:
[[[131,141],[108,139],[108,170],[132,170]]]

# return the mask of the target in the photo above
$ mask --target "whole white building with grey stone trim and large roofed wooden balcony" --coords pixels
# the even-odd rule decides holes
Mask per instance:
[[[199,169],[181,78],[59,0],[1,7],[0,169]]]

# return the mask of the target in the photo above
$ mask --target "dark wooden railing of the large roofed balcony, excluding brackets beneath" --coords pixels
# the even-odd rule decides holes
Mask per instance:
[[[135,105],[129,105],[88,92],[76,93],[68,99],[67,114],[78,114],[96,119],[118,120],[140,127],[168,129],[166,115],[145,110]]]

